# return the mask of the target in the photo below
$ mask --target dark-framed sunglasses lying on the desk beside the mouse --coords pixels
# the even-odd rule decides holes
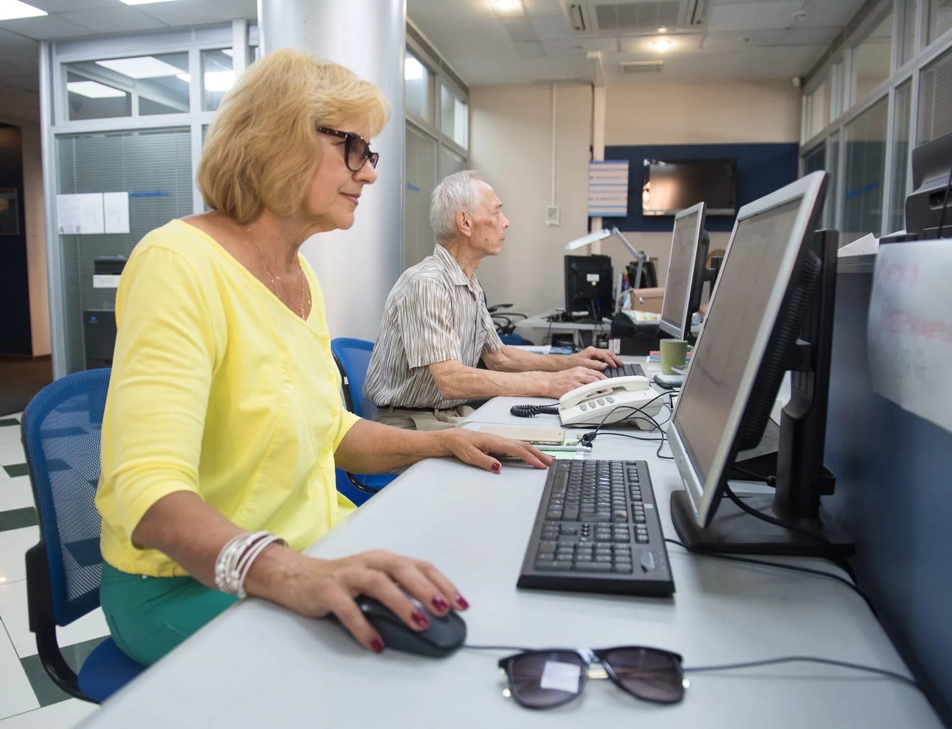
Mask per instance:
[[[591,668],[594,661],[602,669]],[[676,703],[684,699],[681,656],[659,648],[620,646],[598,650],[526,651],[499,661],[509,694],[529,709],[551,709],[577,698],[588,679],[611,679],[638,699]]]

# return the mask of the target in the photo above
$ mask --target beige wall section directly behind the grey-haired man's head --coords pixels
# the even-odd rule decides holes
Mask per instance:
[[[588,231],[588,86],[556,90],[556,204],[559,226],[545,225],[552,169],[552,88],[469,89],[469,160],[503,201],[509,230],[503,252],[477,276],[489,304],[510,302],[526,314],[565,304],[563,247]]]

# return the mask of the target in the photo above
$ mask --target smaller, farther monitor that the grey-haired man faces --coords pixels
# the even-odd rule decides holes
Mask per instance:
[[[691,314],[701,307],[708,236],[704,231],[704,203],[688,207],[674,217],[671,257],[667,262],[661,330],[675,339],[687,339]]]

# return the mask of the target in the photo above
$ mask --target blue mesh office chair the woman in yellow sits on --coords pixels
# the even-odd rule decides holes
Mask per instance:
[[[109,638],[77,676],[56,642],[57,625],[99,607],[101,518],[93,500],[109,371],[90,369],[47,385],[30,401],[21,424],[40,517],[40,542],[27,550],[30,631],[50,679],[70,696],[94,703],[145,670]]]

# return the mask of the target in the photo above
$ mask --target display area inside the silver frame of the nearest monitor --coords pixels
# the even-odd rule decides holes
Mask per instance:
[[[735,229],[674,415],[701,483],[746,404],[747,364],[764,356],[764,328],[768,334],[773,324],[764,319],[771,294],[786,286],[782,268],[801,207],[802,201],[794,200],[740,220]]]

